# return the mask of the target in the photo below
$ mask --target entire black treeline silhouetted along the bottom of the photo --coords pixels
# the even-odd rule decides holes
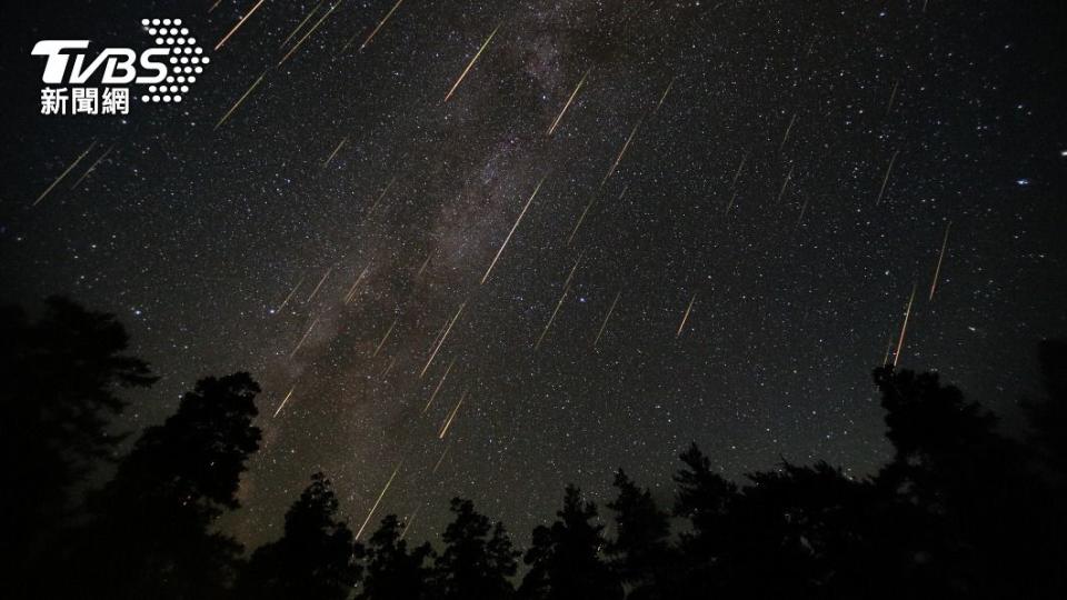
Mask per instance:
[[[120,446],[119,389],[156,378],[113,317],[59,298],[36,320],[3,308],[0,340],[0,598],[1067,598],[1065,342],[1040,347],[1025,438],[936,373],[879,368],[895,453],[869,478],[784,462],[737,483],[692,446],[672,506],[619,470],[610,536],[568,487],[520,551],[458,498],[440,548],[396,516],[356,542],[316,473],[281,537],[248,554],[216,527],[259,448],[247,373],[199,381]],[[113,477],[92,486],[102,462]]]

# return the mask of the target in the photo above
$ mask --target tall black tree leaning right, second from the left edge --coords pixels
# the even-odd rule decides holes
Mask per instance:
[[[248,373],[207,378],[163,424],[144,430],[90,504],[94,521],[71,561],[79,583],[109,598],[216,598],[241,550],[213,531],[239,506],[239,477],[259,446]]]

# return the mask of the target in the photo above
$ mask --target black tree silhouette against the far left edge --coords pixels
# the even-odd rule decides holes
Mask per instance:
[[[0,551],[17,557],[4,561],[11,573],[0,578],[0,596],[11,598],[28,592],[18,582],[38,578],[27,570],[54,567],[57,538],[77,508],[72,487],[122,439],[109,429],[126,406],[118,388],[156,378],[123,353],[128,337],[113,316],[59,297],[32,322],[19,308],[0,308]]]

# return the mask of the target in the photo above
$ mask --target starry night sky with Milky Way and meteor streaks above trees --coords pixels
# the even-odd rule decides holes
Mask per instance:
[[[690,441],[861,477],[872,368],[1010,428],[1067,332],[1059,2],[266,0],[218,50],[256,0],[19,4],[0,300],[119,316],[127,428],[249,370],[246,543],[316,470],[353,530],[388,484],[368,530],[463,496],[520,544],[618,467],[668,501]],[[210,57],[180,103],[39,114],[36,41],[142,18]]]

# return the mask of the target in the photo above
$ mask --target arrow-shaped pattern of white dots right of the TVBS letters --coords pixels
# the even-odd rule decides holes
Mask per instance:
[[[141,96],[142,102],[181,102],[189,92],[189,83],[196,83],[203,66],[211,59],[203,56],[203,48],[197,46],[197,39],[189,29],[181,26],[181,19],[141,19],[141,27],[152,37],[157,47],[167,48],[167,77],[162,82],[148,87],[148,93]]]

